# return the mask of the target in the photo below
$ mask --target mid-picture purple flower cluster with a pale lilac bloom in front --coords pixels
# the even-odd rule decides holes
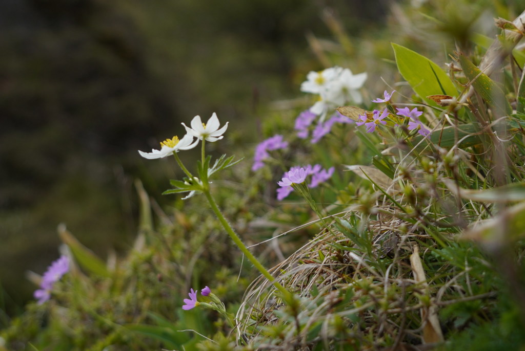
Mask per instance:
[[[322,169],[320,164],[315,164],[314,166],[308,164],[306,167],[290,168],[288,172],[282,175],[282,180],[277,182],[280,187],[277,189],[277,200],[285,199],[293,191],[292,184],[303,183],[308,175],[312,176],[308,188],[316,188],[320,183],[330,179],[334,170],[333,167],[330,167],[328,170]]]

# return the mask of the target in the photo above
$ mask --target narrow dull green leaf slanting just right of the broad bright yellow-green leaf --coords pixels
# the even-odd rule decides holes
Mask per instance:
[[[495,109],[494,112],[498,116],[506,116],[512,113],[512,108],[505,97],[505,93],[503,93],[496,82],[491,80],[485,73],[482,73],[465,55],[459,54],[459,63],[474,89],[490,107]]]

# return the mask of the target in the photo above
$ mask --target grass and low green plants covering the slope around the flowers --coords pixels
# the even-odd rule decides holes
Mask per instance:
[[[254,6],[262,11],[271,4]],[[457,40],[462,70],[450,64],[447,74],[427,58],[433,54],[393,44],[398,73],[409,85],[395,85],[399,91],[385,103],[354,107],[366,123],[373,113],[364,108],[386,109],[386,124],[374,124],[374,133],[335,125],[314,144],[293,130],[293,117],[311,105],[276,104],[261,129],[265,136],[283,135],[287,148],[268,150],[266,166],[257,172],[226,155],[212,166],[203,148],[201,161],[194,162],[197,178],[185,171],[186,178],[170,181],[170,206],[159,206],[137,182],[139,234],[126,255],[110,256],[107,263],[61,227],[71,270],[53,287],[50,301],[29,303],[9,321],[0,332],[6,347],[523,348],[524,116],[510,115],[510,106],[522,103],[521,67],[507,57],[507,47],[498,52],[498,73],[509,77],[505,84],[478,67],[485,52],[469,35],[478,7],[474,17],[455,23],[458,14],[442,4],[422,6],[422,12],[435,6],[433,23]],[[341,43],[323,46],[310,38],[319,59],[352,59],[352,40],[335,17],[325,14],[325,20]],[[377,40],[370,45],[381,46]],[[400,77],[390,74],[385,81],[396,84],[394,76]],[[412,92],[423,99],[454,98],[414,104],[407,97]],[[421,119],[396,113],[406,106],[421,112]],[[212,153],[222,151],[220,145],[233,149],[224,139],[206,145]],[[245,149],[229,152],[251,156]],[[179,164],[186,161],[175,156]],[[316,163],[334,167],[331,180],[314,188],[293,183],[295,191],[276,202],[283,171]],[[182,201],[177,193],[188,191],[194,196]],[[254,257],[246,248],[241,255],[225,231],[248,243]],[[261,272],[272,267],[271,276],[258,277],[252,264]],[[190,288],[204,286],[213,293],[198,292],[198,304],[182,310]]]

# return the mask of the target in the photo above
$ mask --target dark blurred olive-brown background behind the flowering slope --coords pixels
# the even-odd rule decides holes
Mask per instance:
[[[155,173],[166,163],[144,162],[138,149],[182,136],[180,122],[214,111],[239,138],[257,140],[259,106],[299,96],[306,73],[323,68],[306,39],[331,36],[323,11],[358,36],[386,7],[0,1],[0,310],[16,314],[31,299],[25,272],[58,257],[61,222],[101,257],[130,247],[133,180],[155,196],[166,188]]]

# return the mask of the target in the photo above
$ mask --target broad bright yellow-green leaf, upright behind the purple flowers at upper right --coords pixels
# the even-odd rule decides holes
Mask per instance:
[[[392,43],[392,47],[397,69],[417,95],[424,98],[428,104],[437,106],[434,101],[426,98],[429,95],[457,96],[454,83],[437,64],[401,45]]]

